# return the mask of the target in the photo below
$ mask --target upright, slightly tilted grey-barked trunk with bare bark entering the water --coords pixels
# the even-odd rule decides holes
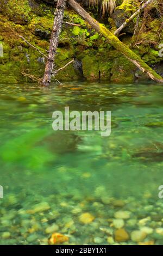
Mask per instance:
[[[59,35],[61,32],[62,22],[64,19],[64,11],[66,7],[66,0],[58,0],[57,7],[54,13],[54,25],[51,35],[51,42],[49,47],[48,58],[45,67],[45,73],[43,76],[43,86],[49,86],[51,83],[51,77],[53,75],[54,58],[58,47]]]

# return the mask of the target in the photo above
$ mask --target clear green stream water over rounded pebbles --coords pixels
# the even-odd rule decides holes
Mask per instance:
[[[108,244],[115,212],[124,229],[152,228],[143,241],[163,244],[163,87],[158,84],[0,84],[1,244],[46,244],[54,223],[65,244]],[[52,130],[52,113],[111,111],[110,137],[98,131]],[[30,212],[41,202],[49,210]],[[89,212],[95,220],[80,222]],[[109,231],[110,230],[110,231]],[[9,232],[10,234],[4,233]],[[112,242],[114,243],[114,242]],[[128,239],[122,244],[135,244]]]

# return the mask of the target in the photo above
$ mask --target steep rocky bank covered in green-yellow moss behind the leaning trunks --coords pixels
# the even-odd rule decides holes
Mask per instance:
[[[3,45],[3,57],[0,57],[0,82],[29,82],[29,77],[22,73],[42,77],[46,59],[23,41],[18,35],[26,38],[30,44],[39,48],[45,55],[49,47],[54,8],[53,1],[38,0],[2,0],[0,3],[0,44]],[[82,2],[82,1],[78,1]],[[84,1],[83,1],[84,2]],[[86,2],[86,1],[85,1]],[[133,1],[117,1],[117,8],[112,18],[101,20],[97,11],[92,15],[112,32],[120,26],[137,9]],[[125,2],[125,1],[124,1]],[[159,56],[159,44],[163,42],[160,30],[163,22],[156,7],[151,7],[153,16],[146,21],[141,35],[133,37],[136,19],[124,29],[120,39],[136,54],[162,75],[163,58]],[[150,10],[149,10],[150,11]],[[143,23],[143,18],[142,18]],[[72,26],[69,23],[79,26]],[[142,29],[142,27],[141,27]],[[74,63],[60,71],[55,77],[59,81],[78,79],[105,80],[109,82],[134,82],[147,79],[121,53],[110,46],[105,38],[93,31],[77,14],[67,7],[64,25],[55,59],[56,68],[64,66],[74,58]]]

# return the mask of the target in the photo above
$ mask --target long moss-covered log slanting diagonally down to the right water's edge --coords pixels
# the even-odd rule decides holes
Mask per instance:
[[[163,83],[163,78],[159,76],[152,68],[150,68],[143,60],[137,56],[127,45],[123,44],[114,34],[112,34],[105,26],[101,25],[98,21],[93,19],[76,1],[68,0],[68,4],[72,7],[76,13],[78,13],[82,18],[91,25],[98,33],[101,33],[106,40],[117,51],[123,53],[123,55],[134,63],[139,69],[145,72],[152,80],[156,82]]]

